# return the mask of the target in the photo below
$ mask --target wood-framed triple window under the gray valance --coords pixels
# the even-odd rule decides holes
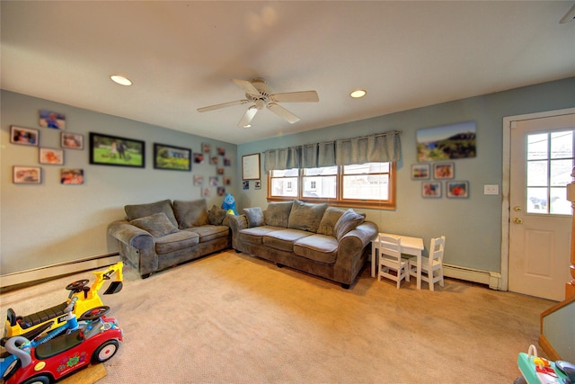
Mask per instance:
[[[367,163],[270,171],[268,200],[394,209],[394,170],[394,163]]]

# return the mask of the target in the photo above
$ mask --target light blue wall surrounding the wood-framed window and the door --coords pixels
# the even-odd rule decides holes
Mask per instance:
[[[238,156],[332,138],[402,130],[403,160],[398,164],[397,209],[363,210],[367,219],[376,222],[382,231],[423,237],[428,246],[431,237],[445,235],[445,263],[500,272],[501,194],[484,195],[483,185],[498,184],[501,189],[503,118],[573,106],[575,78],[569,78],[243,144],[238,146]],[[470,183],[469,199],[447,199],[445,183],[442,199],[421,198],[421,182],[411,180],[410,176],[411,165],[417,162],[417,130],[462,121],[475,121],[477,128],[477,156],[455,161],[455,180]],[[249,190],[240,190],[236,196],[240,208],[267,205],[264,174],[261,182],[261,191],[253,190],[253,182]]]

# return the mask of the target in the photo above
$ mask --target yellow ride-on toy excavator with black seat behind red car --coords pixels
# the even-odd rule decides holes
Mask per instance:
[[[96,280],[90,287],[87,286],[89,280],[71,282],[66,286],[66,290],[70,291],[68,299],[52,308],[43,309],[40,312],[26,316],[17,316],[13,308],[8,308],[3,342],[6,338],[16,335],[23,335],[27,339],[33,339],[48,328],[54,329],[58,326],[64,326],[67,316],[65,310],[74,298],[77,298],[74,308],[75,314],[83,314],[88,309],[101,307],[103,304],[98,290],[102,288],[104,282],[111,280],[112,275],[115,274],[115,280],[111,281],[110,286],[103,294],[110,295],[119,292],[122,289],[123,266],[124,264],[119,262],[111,265],[105,271],[93,272]]]

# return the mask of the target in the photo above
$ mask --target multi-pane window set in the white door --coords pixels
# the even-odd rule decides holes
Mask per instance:
[[[566,185],[573,168],[573,131],[527,136],[527,213],[571,215]]]

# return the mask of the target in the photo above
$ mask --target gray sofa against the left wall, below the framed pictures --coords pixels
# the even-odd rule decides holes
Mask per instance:
[[[127,205],[126,219],[114,221],[108,233],[118,240],[122,260],[142,278],[173,265],[229,248],[226,210],[205,200],[157,201]]]

